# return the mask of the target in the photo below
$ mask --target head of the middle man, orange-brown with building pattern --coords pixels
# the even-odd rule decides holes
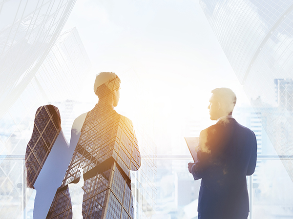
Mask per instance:
[[[99,102],[106,105],[117,106],[120,98],[121,80],[113,72],[101,72],[96,76],[94,91]]]

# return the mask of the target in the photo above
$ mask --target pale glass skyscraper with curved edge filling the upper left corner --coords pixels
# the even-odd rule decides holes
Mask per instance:
[[[42,65],[74,3],[75,0],[0,2],[0,118]]]

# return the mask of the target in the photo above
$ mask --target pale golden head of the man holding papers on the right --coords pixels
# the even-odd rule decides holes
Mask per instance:
[[[236,95],[229,88],[216,88],[211,91],[209,99],[209,115],[211,120],[217,120],[223,116],[232,115],[236,104]]]

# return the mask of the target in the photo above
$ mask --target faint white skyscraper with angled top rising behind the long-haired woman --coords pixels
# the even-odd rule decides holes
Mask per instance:
[[[64,31],[20,97],[0,119],[1,154],[24,155],[35,113],[41,105],[51,103],[57,106],[62,123],[72,123],[63,121],[63,118],[71,113],[75,104],[73,100],[90,66],[76,28]],[[68,130],[64,130],[66,132]]]

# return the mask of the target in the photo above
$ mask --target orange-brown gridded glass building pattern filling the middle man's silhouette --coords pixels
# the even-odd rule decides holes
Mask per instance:
[[[132,122],[107,105],[104,97],[119,88],[118,77],[98,87],[99,103],[89,111],[47,219],[71,218],[69,183],[84,172],[83,216],[85,219],[133,219],[129,170],[138,170],[141,156]],[[102,98],[101,98],[102,96]],[[101,99],[101,100],[100,100]]]

